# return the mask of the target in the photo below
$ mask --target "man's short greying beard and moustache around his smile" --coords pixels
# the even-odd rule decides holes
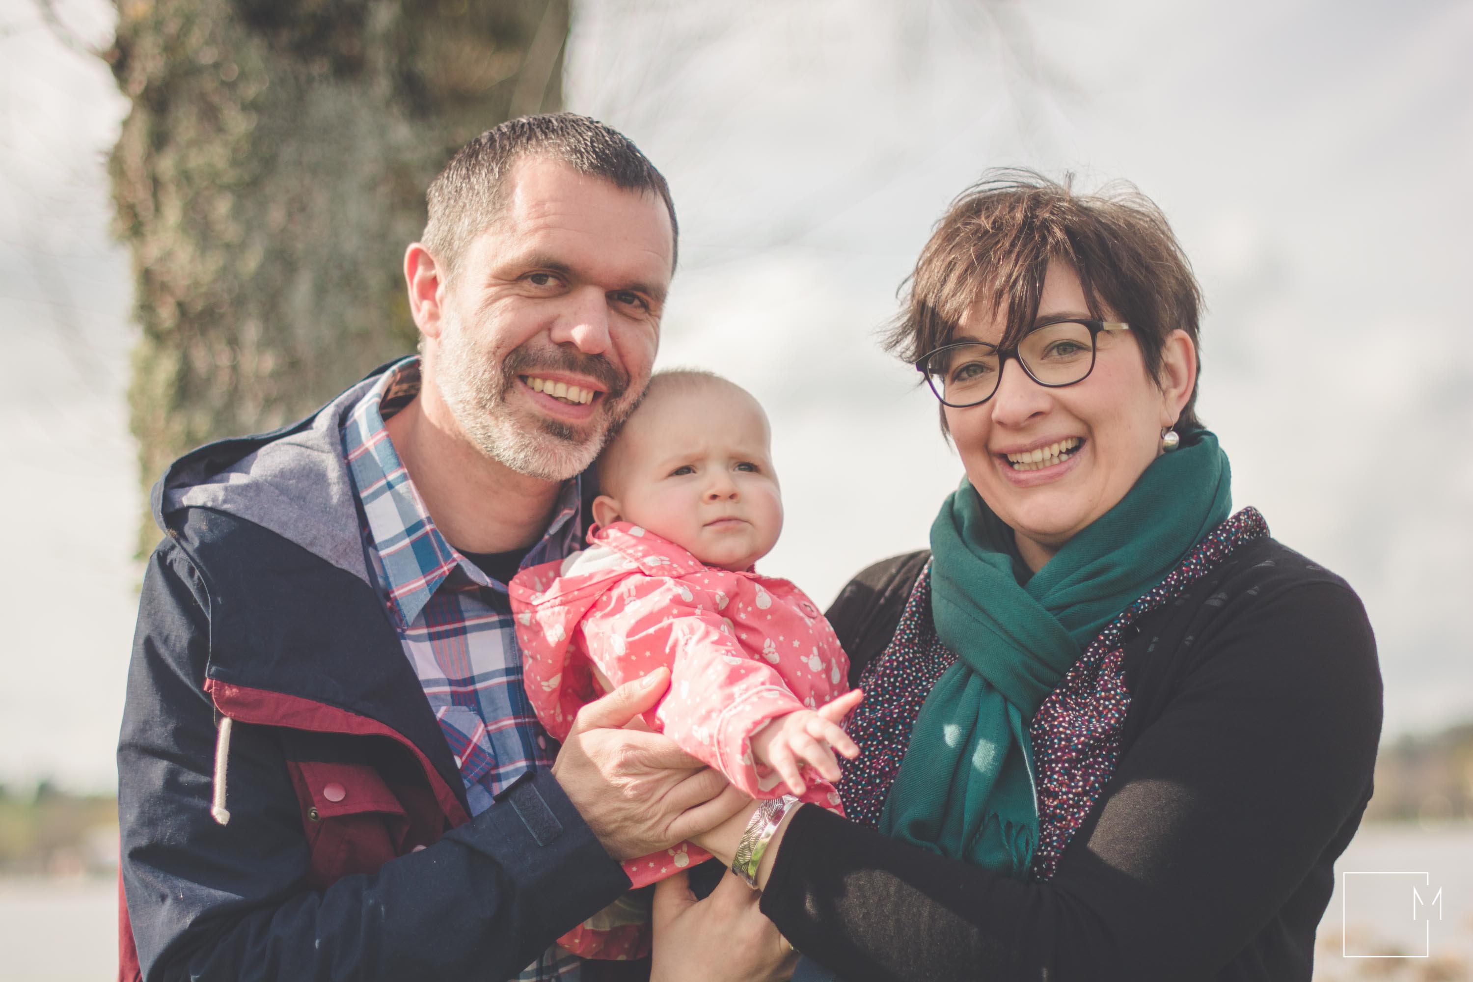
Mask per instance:
[[[625,399],[629,380],[607,359],[552,346],[527,345],[507,352],[496,365],[467,339],[464,324],[451,322],[440,334],[435,377],[445,405],[476,448],[504,467],[527,477],[563,481],[582,473],[604,449],[608,434],[633,409]],[[598,380],[607,392],[594,417],[574,425],[558,420],[520,420],[507,400],[518,375],[576,372]]]

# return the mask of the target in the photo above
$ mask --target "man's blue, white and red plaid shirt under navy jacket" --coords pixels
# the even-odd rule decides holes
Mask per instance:
[[[507,584],[445,540],[389,440],[384,420],[418,392],[417,358],[392,367],[343,424],[343,451],[362,505],[365,552],[474,816],[521,774],[551,766],[557,743],[521,688]],[[582,546],[580,493],[579,478],[563,486],[546,533],[521,565],[561,559]],[[579,964],[554,947],[517,978],[577,979]]]

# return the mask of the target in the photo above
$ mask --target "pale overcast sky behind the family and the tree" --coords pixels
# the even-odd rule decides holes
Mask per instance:
[[[60,10],[106,37],[106,4]],[[670,178],[661,362],[767,406],[788,524],[763,568],[820,602],[924,546],[960,477],[873,342],[950,197],[997,165],[1139,184],[1206,292],[1200,414],[1234,504],[1361,593],[1393,735],[1473,717],[1470,50],[1467,1],[586,0],[566,91]],[[0,0],[0,782],[113,782],[138,492],[102,159],[124,112]]]

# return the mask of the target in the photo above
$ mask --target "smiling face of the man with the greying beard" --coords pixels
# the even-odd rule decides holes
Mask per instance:
[[[426,380],[465,437],[542,480],[586,468],[654,364],[673,231],[657,194],[524,158],[433,324]]]

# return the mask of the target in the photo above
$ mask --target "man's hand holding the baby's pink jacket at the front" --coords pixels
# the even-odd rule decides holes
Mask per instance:
[[[552,776],[616,860],[667,849],[736,813],[747,796],[660,733],[623,729],[660,701],[655,668],[577,711]]]

